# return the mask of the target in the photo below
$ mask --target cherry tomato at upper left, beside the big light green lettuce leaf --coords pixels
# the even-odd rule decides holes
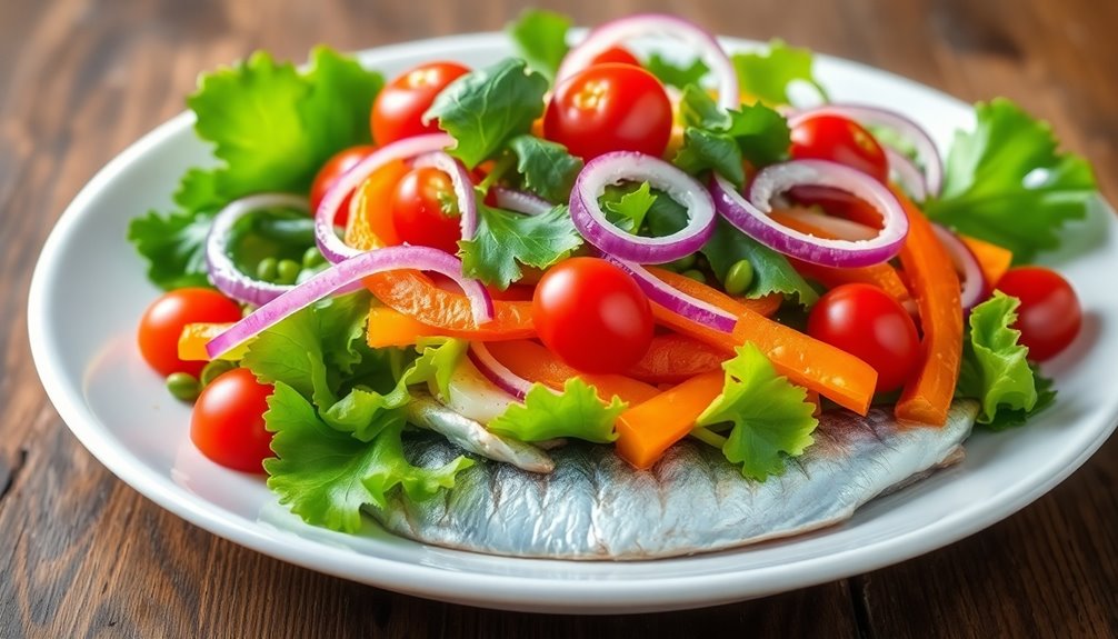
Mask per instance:
[[[390,82],[372,103],[369,116],[372,140],[383,145],[414,135],[438,132],[435,121],[423,123],[423,114],[430,108],[435,96],[446,85],[467,73],[467,67],[456,63],[428,63]]]

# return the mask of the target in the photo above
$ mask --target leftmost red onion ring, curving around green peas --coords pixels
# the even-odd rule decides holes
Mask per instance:
[[[210,282],[226,297],[245,304],[260,306],[280,297],[294,286],[262,282],[249,277],[237,268],[229,255],[229,240],[237,220],[264,209],[294,209],[306,211],[306,198],[290,193],[260,193],[234,200],[214,218],[209,235],[206,236],[206,266]]]

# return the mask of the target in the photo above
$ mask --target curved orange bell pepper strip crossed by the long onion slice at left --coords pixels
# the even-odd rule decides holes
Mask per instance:
[[[389,246],[388,239],[396,240],[383,203],[402,175],[401,169],[406,171],[402,163],[386,164],[358,187],[345,229],[347,244],[360,250],[372,250]],[[493,320],[477,326],[470,298],[459,292],[440,288],[419,271],[379,273],[362,282],[386,306],[433,327],[437,334],[483,341],[536,336],[531,302],[494,299]]]

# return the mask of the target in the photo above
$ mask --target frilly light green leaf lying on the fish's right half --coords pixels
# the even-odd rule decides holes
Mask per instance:
[[[812,445],[818,420],[807,391],[778,376],[768,357],[751,343],[722,364],[726,385],[699,416],[698,426],[732,422],[722,454],[741,465],[741,475],[759,481],[785,470],[785,458]]]

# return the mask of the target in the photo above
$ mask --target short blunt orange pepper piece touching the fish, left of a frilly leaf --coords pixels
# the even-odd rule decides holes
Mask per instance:
[[[629,407],[617,418],[617,455],[637,468],[652,468],[721,394],[724,376],[722,371],[703,373]]]

